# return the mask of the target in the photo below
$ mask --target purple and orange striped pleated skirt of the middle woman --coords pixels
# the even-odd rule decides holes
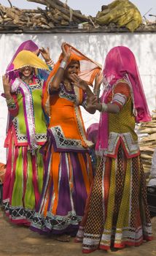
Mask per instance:
[[[87,152],[55,152],[47,148],[42,195],[31,230],[76,234],[82,220],[93,173]]]

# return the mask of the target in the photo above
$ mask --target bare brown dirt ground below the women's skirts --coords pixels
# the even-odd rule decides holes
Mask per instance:
[[[141,246],[126,247],[122,250],[92,252],[91,256],[153,256],[156,255],[156,217],[152,218],[152,229],[155,240],[144,242]],[[74,243],[74,238],[68,243],[55,241],[41,236],[28,229],[12,225],[0,208],[0,256],[80,256],[82,245]]]

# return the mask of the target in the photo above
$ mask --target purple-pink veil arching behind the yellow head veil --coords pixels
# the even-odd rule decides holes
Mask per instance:
[[[6,73],[9,74],[9,80],[10,79],[14,79],[17,74],[15,74],[14,71],[12,71],[12,69],[14,69],[14,65],[13,65],[13,61],[15,59],[15,57],[17,56],[18,53],[20,53],[21,50],[30,50],[31,52],[36,52],[36,50],[39,50],[38,46],[36,45],[35,42],[33,42],[32,40],[27,40],[25,42],[23,42],[16,50],[14,56],[12,57],[12,60],[9,62],[9,65],[7,66],[6,69]],[[16,71],[18,73],[18,71]]]

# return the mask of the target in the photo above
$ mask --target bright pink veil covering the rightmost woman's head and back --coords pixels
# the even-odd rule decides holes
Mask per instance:
[[[101,96],[101,102],[107,103],[107,96],[109,95],[109,92],[112,91],[112,86],[117,80],[127,78],[131,86],[133,112],[135,113],[136,123],[139,123],[140,121],[151,121],[147,100],[144,95],[144,89],[139,75],[139,69],[132,51],[125,46],[112,48],[106,56],[103,72],[108,86],[104,89],[104,93]],[[105,129],[104,124],[106,125]],[[108,114],[101,113],[96,150],[107,147]]]

